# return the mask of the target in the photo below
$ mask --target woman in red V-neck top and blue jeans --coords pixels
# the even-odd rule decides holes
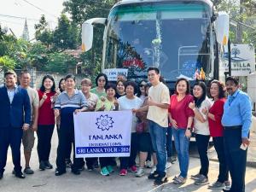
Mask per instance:
[[[175,84],[175,94],[171,96],[169,119],[172,124],[175,148],[179,163],[180,174],[174,177],[174,183],[183,184],[187,180],[189,169],[189,140],[194,112],[189,108],[189,102],[194,102],[190,94],[187,79],[178,79]]]

